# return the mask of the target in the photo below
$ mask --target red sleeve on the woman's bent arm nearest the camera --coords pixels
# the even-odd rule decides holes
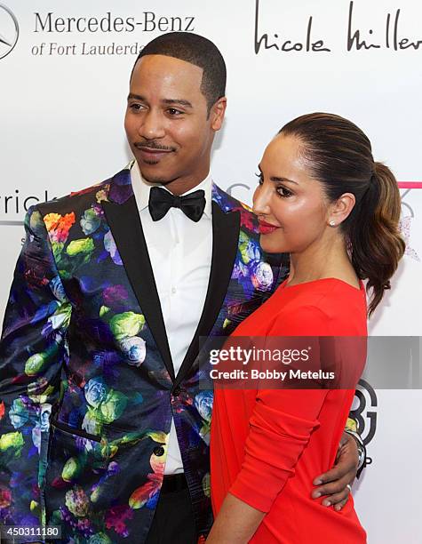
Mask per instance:
[[[330,317],[320,308],[298,308],[289,324],[275,320],[268,336],[328,336]],[[261,389],[250,419],[242,468],[229,492],[268,512],[290,476],[312,432],[327,389]],[[265,477],[263,477],[265,475]],[[265,485],[263,485],[265,482]]]

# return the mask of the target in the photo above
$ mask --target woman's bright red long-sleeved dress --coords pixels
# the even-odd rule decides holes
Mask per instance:
[[[235,336],[367,335],[363,285],[284,282]],[[362,365],[362,361],[356,361]],[[362,370],[362,368],[361,368]],[[361,371],[360,371],[361,372]],[[352,497],[341,511],[311,498],[333,467],[354,389],[216,388],[211,423],[214,515],[227,492],[266,512],[254,544],[362,544]]]

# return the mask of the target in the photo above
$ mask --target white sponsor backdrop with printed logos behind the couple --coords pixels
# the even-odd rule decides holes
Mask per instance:
[[[227,61],[212,172],[243,202],[251,204],[267,142],[293,117],[336,113],[369,135],[376,160],[400,181],[407,242],[370,333],[420,336],[422,4],[414,0],[0,0],[0,322],[25,212],[131,159],[123,115],[132,65],[143,45],[174,30],[209,37]],[[368,449],[354,496],[369,542],[422,543],[421,390],[362,380],[354,411]]]

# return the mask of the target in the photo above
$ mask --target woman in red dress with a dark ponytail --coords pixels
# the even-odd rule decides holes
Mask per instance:
[[[357,126],[321,113],[286,124],[259,164],[253,211],[263,250],[289,252],[291,274],[235,336],[366,336],[404,252],[400,209],[394,175]],[[335,460],[354,385],[216,388],[209,544],[366,541],[351,498],[338,512],[309,491]]]

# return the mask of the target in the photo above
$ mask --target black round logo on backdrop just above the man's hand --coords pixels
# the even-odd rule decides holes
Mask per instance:
[[[377,431],[378,398],[375,389],[366,380],[359,380],[354,394],[354,403],[350,417],[356,421],[363,444],[368,446]],[[366,458],[366,465],[370,465],[372,459]]]

